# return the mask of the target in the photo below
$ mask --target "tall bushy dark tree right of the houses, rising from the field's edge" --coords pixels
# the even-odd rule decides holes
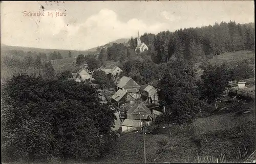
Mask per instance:
[[[196,87],[195,71],[184,61],[167,64],[164,77],[159,82],[159,103],[166,113],[159,122],[192,122],[200,110],[199,91]]]

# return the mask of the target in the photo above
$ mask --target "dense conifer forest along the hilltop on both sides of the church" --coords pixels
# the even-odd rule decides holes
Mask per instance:
[[[151,56],[154,63],[166,63],[171,58],[184,58],[190,62],[203,61],[226,51],[254,49],[254,23],[240,24],[235,21],[221,22],[201,28],[180,29],[175,32],[160,32],[157,35],[141,36],[141,42],[148,46],[145,55]],[[131,38],[129,46],[114,43],[106,50],[101,49],[99,60],[123,62],[133,56],[137,38]]]

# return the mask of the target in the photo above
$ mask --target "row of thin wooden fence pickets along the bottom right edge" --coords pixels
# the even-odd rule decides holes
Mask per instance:
[[[230,157],[226,154],[220,154],[219,157],[214,156],[199,156],[195,158],[188,158],[185,160],[185,163],[242,163],[246,161],[251,154],[255,153],[255,150],[246,149],[240,150],[238,149],[238,155],[236,157]]]

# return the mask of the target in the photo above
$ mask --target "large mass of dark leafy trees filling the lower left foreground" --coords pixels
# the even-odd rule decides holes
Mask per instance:
[[[114,139],[114,111],[89,85],[14,75],[2,89],[5,161],[87,159]]]

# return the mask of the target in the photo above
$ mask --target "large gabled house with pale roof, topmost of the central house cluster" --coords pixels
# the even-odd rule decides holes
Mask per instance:
[[[138,93],[140,86],[131,77],[123,76],[120,78],[117,88],[130,93],[130,95],[135,99],[138,99],[141,96],[141,94]]]

